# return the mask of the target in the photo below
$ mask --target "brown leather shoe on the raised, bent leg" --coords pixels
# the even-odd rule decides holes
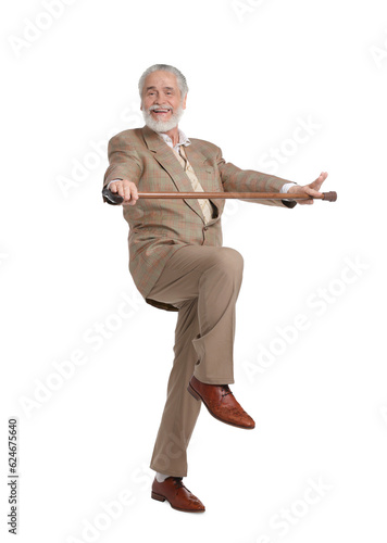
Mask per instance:
[[[196,400],[201,400],[217,420],[246,430],[255,428],[255,422],[235,400],[228,384],[207,384],[192,376],[188,392]]]

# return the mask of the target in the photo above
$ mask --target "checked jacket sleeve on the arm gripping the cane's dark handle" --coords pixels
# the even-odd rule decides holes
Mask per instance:
[[[142,174],[142,164],[137,151],[126,139],[114,136],[108,146],[109,167],[104,174],[103,188],[113,179],[128,179],[138,185]]]

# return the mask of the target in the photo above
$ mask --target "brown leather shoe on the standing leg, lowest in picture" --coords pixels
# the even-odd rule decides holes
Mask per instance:
[[[154,478],[152,484],[153,500],[165,502],[167,500],[171,507],[187,513],[203,513],[204,505],[184,484],[183,477],[168,477],[164,482],[159,482]]]

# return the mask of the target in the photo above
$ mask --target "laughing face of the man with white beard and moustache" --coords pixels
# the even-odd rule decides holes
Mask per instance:
[[[155,131],[168,131],[177,126],[187,96],[182,100],[177,78],[171,72],[149,74],[142,89],[141,111],[147,125]]]

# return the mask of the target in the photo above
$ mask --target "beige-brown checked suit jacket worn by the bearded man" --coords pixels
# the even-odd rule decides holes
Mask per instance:
[[[185,148],[204,191],[211,192],[279,192],[286,179],[250,169],[240,169],[225,162],[219,147],[190,138]],[[124,130],[109,141],[109,162],[103,187],[112,179],[134,181],[141,192],[192,192],[191,182],[173,150],[148,128]],[[250,202],[257,202],[249,200]],[[198,200],[137,200],[123,206],[129,225],[129,270],[145,300],[157,307],[177,311],[170,304],[148,298],[166,261],[187,245],[222,245],[221,217],[224,200],[213,200],[214,214],[205,224]],[[296,202],[261,200],[259,203],[294,207]]]

